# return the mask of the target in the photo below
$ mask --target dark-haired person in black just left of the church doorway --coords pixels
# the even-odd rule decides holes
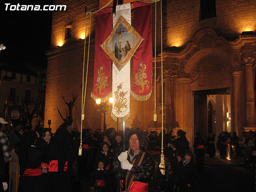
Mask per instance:
[[[181,129],[177,131],[177,138],[172,140],[171,148],[173,150],[178,150],[180,152],[184,152],[189,150],[189,143],[186,138],[186,132],[182,131]]]

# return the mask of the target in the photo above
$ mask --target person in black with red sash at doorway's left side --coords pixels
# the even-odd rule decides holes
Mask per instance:
[[[196,132],[196,138],[194,141],[194,152],[196,154],[196,165],[198,173],[202,173],[204,170],[204,147],[205,142],[204,139],[201,137],[200,132]]]

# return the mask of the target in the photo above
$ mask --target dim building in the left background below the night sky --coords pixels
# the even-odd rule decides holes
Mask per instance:
[[[46,69],[26,64],[0,63],[0,81],[0,116],[10,123],[12,118],[21,118],[31,123],[32,128],[43,126]],[[5,110],[6,103],[8,107]],[[13,108],[22,112],[11,114]]]

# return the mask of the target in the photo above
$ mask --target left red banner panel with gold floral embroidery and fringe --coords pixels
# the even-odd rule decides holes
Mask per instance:
[[[100,45],[112,31],[112,8],[105,8],[96,13],[94,80],[91,97],[101,101],[108,100],[111,95],[111,60]]]

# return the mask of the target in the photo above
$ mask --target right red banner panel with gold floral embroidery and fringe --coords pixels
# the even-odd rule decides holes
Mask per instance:
[[[152,4],[134,2],[134,29],[144,39],[133,60],[131,95],[139,101],[150,98],[152,91]]]

